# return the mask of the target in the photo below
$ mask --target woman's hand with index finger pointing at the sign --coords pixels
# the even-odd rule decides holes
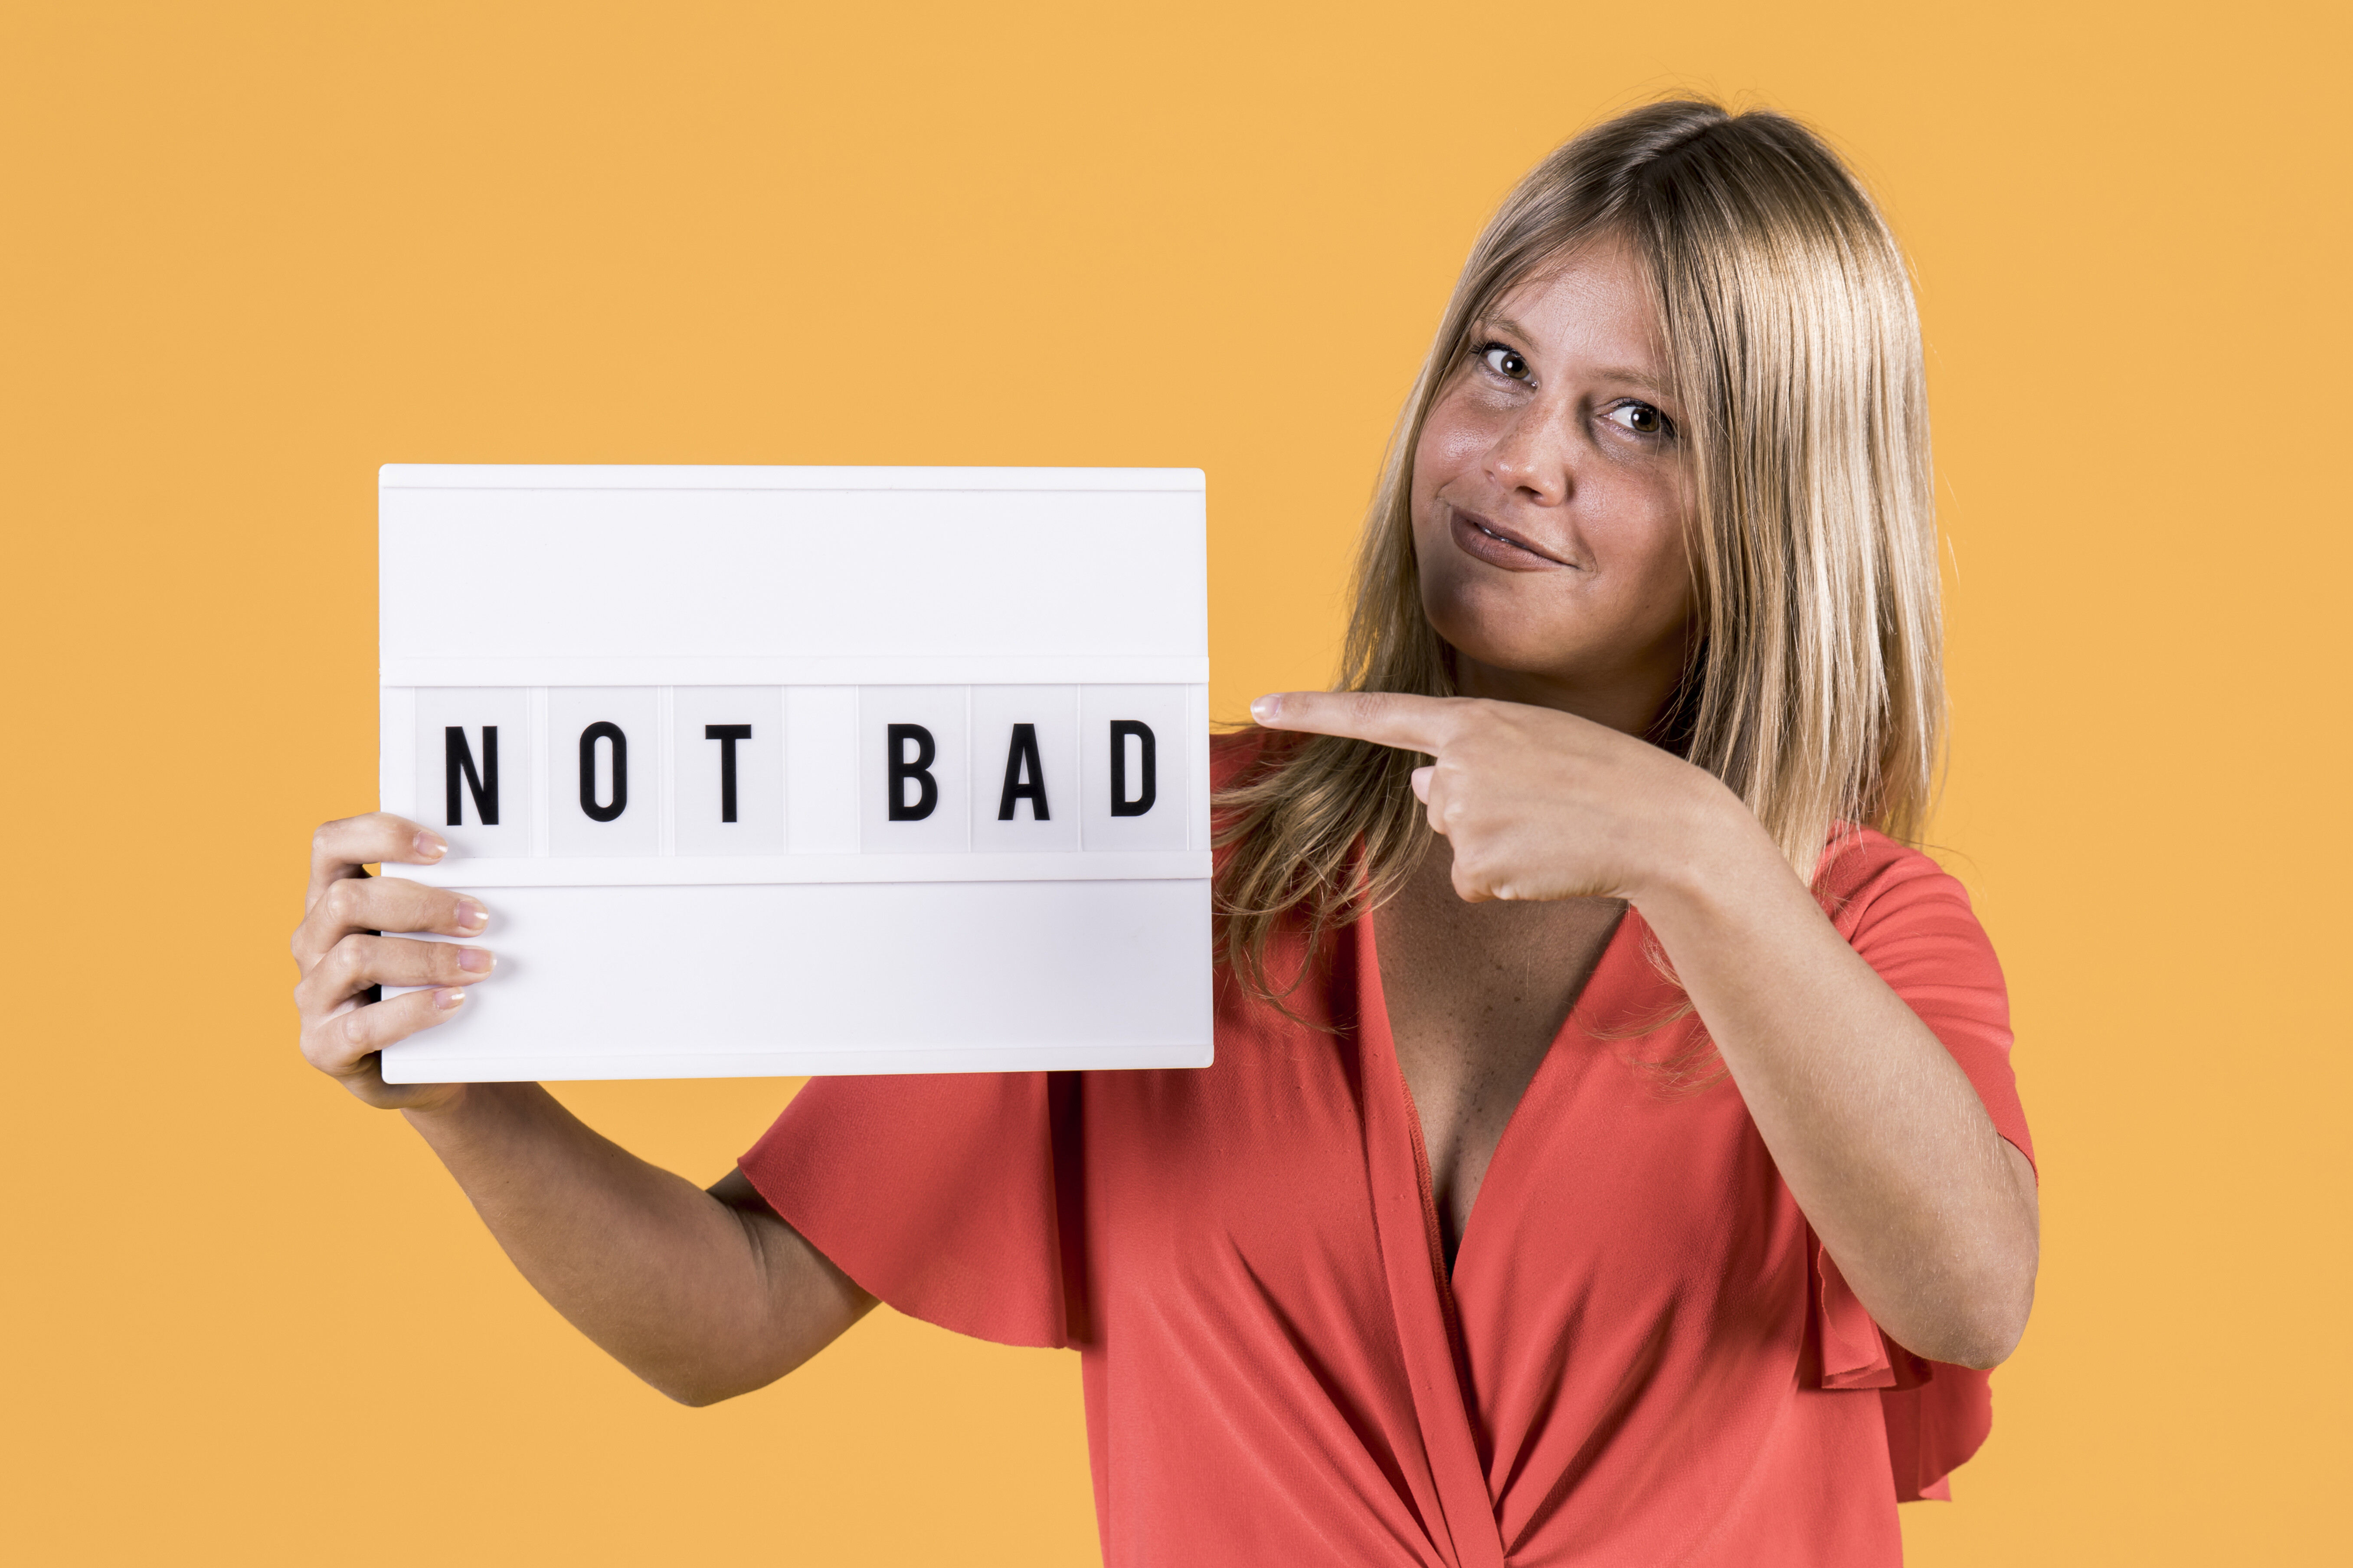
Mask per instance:
[[[1431,827],[1454,849],[1454,891],[1482,898],[1626,898],[1687,877],[1727,820],[1762,827],[1715,776],[1553,708],[1393,691],[1282,691],[1266,729],[1353,736],[1435,757],[1414,769]],[[1729,811],[1727,811],[1729,809]],[[1739,818],[1729,813],[1737,811]],[[1718,849],[1720,853],[1720,849]]]

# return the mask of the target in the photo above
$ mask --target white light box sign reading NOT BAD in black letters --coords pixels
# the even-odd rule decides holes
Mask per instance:
[[[386,465],[381,797],[496,976],[393,1084],[1209,1063],[1191,468]]]

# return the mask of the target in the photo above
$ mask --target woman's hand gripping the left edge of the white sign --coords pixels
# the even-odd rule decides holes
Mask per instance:
[[[384,1110],[440,1110],[466,1093],[464,1084],[386,1084],[379,1053],[454,1016],[466,1004],[466,987],[487,980],[496,959],[485,947],[384,936],[478,936],[489,926],[489,910],[466,893],[405,877],[369,877],[362,867],[433,865],[445,853],[449,842],[438,832],[386,811],[325,823],[311,837],[311,889],[294,926],[301,1053]],[[376,1001],[379,985],[428,990]]]

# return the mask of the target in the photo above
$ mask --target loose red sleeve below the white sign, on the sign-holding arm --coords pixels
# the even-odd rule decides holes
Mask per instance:
[[[1066,1347],[1056,1199],[1071,1074],[812,1079],[741,1166],[849,1279],[908,1316],[1000,1345]]]

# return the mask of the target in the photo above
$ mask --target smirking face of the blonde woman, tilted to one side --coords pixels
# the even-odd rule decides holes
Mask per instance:
[[[1640,733],[1692,621],[1682,421],[1657,306],[1619,240],[1471,324],[1414,447],[1421,609],[1461,689]]]

